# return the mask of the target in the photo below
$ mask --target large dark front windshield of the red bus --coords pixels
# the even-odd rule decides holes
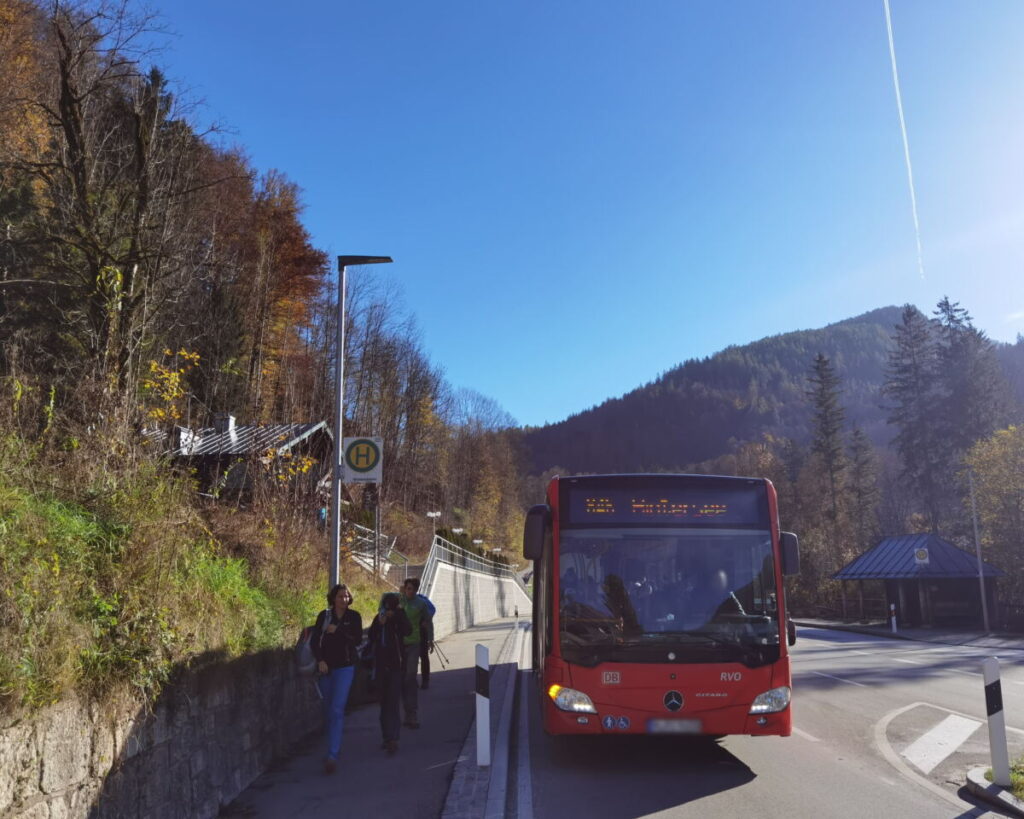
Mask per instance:
[[[558,567],[569,662],[755,666],[779,657],[768,530],[563,529]]]

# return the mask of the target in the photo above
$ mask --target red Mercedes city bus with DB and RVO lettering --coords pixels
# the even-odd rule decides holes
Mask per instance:
[[[523,554],[548,733],[790,735],[800,551],[770,481],[591,475],[547,497]]]

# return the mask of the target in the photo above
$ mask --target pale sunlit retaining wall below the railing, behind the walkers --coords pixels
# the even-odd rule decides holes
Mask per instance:
[[[434,637],[441,639],[471,626],[499,617],[529,617],[532,603],[522,587],[510,577],[496,577],[479,571],[438,563],[429,590],[437,613]]]

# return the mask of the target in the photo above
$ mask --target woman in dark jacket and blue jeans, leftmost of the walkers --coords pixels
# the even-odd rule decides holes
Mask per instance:
[[[345,586],[335,586],[327,596],[328,608],[316,618],[310,645],[316,657],[319,677],[316,685],[324,699],[327,722],[327,759],[324,773],[333,774],[341,750],[345,727],[345,703],[352,687],[355,659],[362,642],[362,617],[349,608],[352,595]]]

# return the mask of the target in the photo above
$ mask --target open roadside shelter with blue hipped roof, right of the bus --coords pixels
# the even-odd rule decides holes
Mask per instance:
[[[981,562],[989,612],[995,611],[995,581],[1001,574],[991,563]],[[899,624],[975,626],[982,621],[978,575],[975,555],[937,534],[923,533],[885,537],[833,577],[843,581],[844,609],[846,581],[858,581],[862,618],[864,581],[880,580],[887,609],[896,605]]]

